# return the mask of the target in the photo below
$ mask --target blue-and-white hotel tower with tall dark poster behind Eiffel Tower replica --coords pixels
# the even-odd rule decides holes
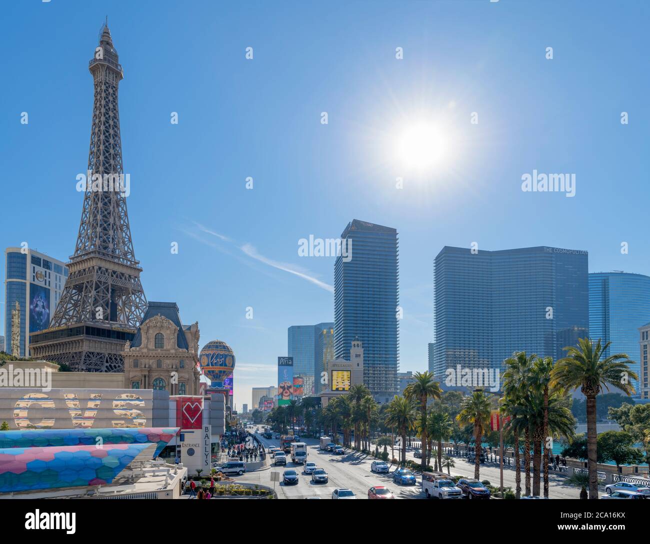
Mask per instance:
[[[24,253],[23,253],[24,251]],[[34,249],[5,250],[5,338],[11,351],[12,310],[20,308],[20,356],[29,356],[29,333],[49,327],[61,297],[68,268],[60,260]]]

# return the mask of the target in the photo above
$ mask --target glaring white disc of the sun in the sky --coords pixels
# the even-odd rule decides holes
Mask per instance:
[[[433,124],[409,125],[398,134],[396,154],[404,167],[427,170],[447,155],[447,141]]]

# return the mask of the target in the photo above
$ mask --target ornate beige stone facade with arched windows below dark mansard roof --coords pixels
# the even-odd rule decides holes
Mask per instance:
[[[199,394],[198,323],[181,327],[161,314],[142,322],[141,336],[136,336],[139,345],[127,342],[124,346],[125,387],[164,389],[170,395]]]

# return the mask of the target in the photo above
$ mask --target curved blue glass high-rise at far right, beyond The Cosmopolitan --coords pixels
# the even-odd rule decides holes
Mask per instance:
[[[612,342],[605,356],[625,353],[640,376],[639,327],[650,321],[650,277],[625,272],[589,275],[589,335]]]

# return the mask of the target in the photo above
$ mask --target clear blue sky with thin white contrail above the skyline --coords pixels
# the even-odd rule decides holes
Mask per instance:
[[[333,320],[333,258],[299,257],[298,240],[337,237],[354,218],[399,232],[402,370],[426,368],[443,245],[587,249],[590,271],[650,273],[647,2],[240,4],[3,5],[3,248],[73,252],[88,60],[108,15],[142,283],[199,321],[201,346],[233,347],[238,407],[275,383],[287,327]],[[423,116],[448,153],[419,173],[386,142]],[[575,197],[523,193],[533,169],[575,173]]]

